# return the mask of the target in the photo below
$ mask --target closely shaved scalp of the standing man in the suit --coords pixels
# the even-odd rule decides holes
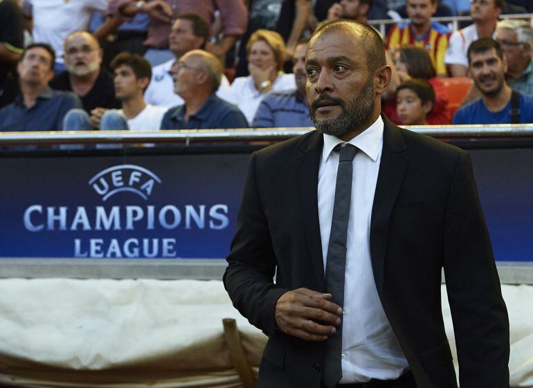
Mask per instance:
[[[353,35],[354,39],[357,39],[361,46],[363,46],[369,71],[374,71],[377,68],[386,65],[385,44],[383,44],[383,39],[381,39],[374,28],[368,26],[368,24],[359,23],[359,21],[346,19],[330,21],[315,31],[311,36],[309,43],[319,37],[330,33],[338,33],[339,31],[344,31],[345,33]]]

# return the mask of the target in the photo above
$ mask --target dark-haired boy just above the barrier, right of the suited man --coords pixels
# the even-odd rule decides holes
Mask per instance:
[[[397,87],[396,103],[401,124],[427,125],[426,118],[435,105],[435,92],[426,80],[412,78]]]

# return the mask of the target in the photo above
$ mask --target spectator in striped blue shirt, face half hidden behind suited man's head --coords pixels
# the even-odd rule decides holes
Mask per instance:
[[[293,55],[292,71],[296,78],[296,90],[272,92],[267,95],[255,113],[252,127],[311,127],[305,97],[305,50],[307,41],[298,44]]]

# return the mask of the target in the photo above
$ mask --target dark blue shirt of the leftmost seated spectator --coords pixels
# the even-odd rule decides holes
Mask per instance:
[[[3,107],[0,131],[62,131],[66,112],[81,107],[80,99],[73,93],[46,86],[31,108],[26,108],[22,95]]]

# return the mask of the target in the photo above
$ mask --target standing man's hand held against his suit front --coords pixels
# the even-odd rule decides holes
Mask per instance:
[[[275,323],[285,334],[307,341],[324,341],[341,324],[343,309],[329,302],[331,294],[298,288],[281,295],[275,305]]]

